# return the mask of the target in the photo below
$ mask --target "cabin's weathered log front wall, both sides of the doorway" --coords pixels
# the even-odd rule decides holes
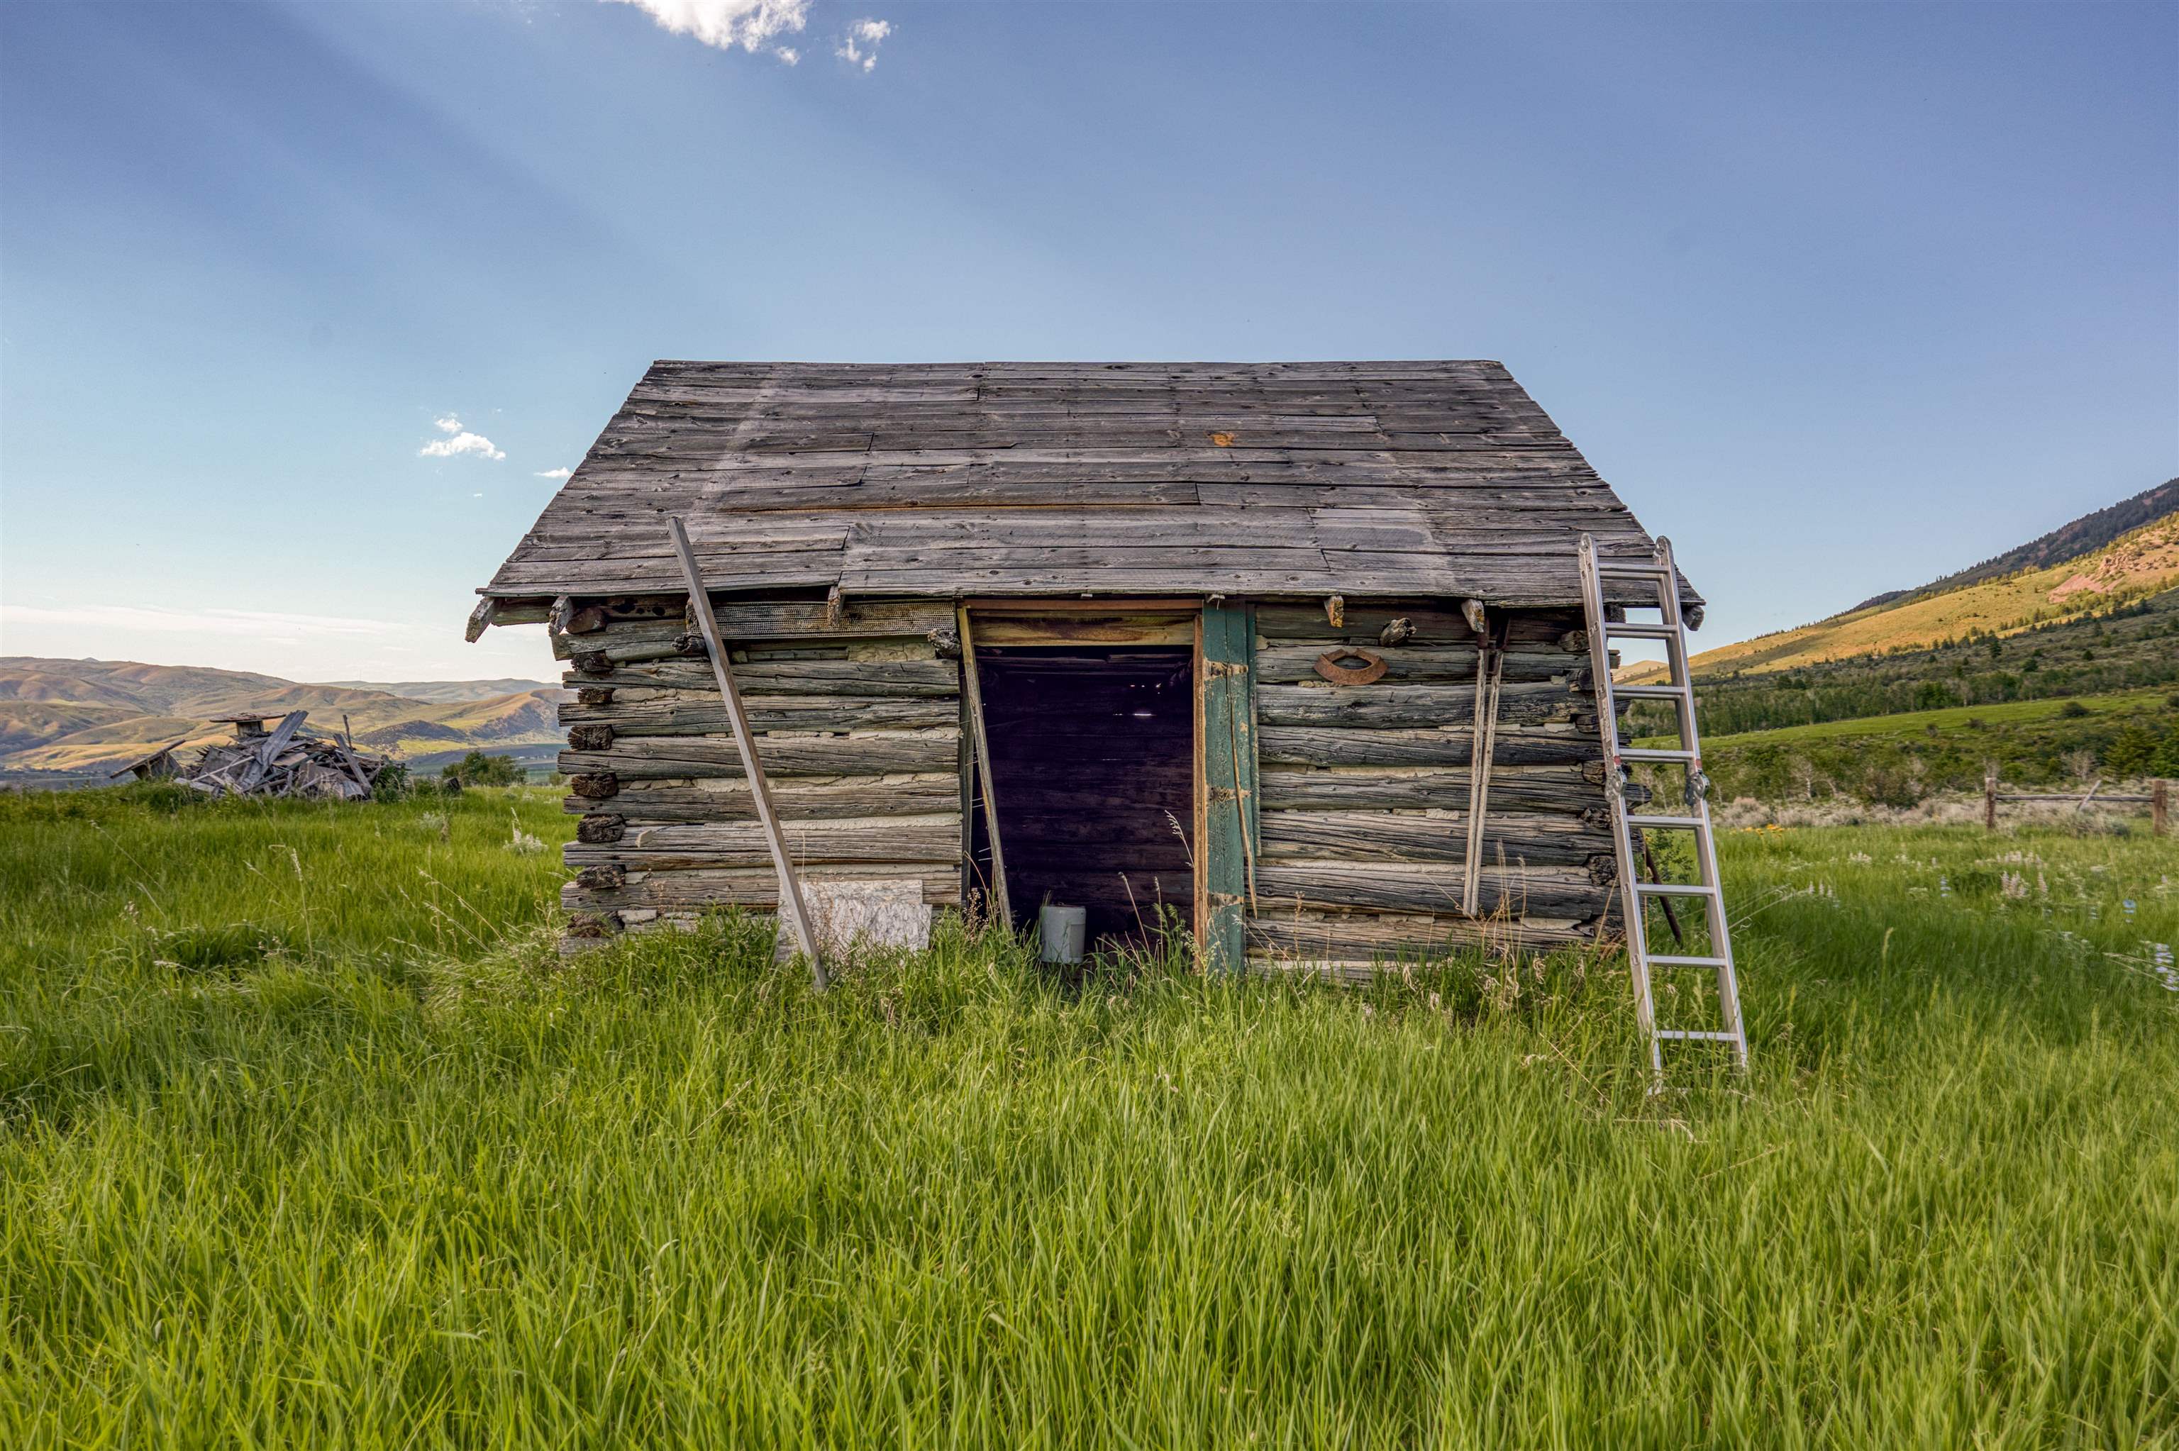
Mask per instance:
[[[959,641],[946,601],[721,603],[721,632],[808,880],[911,878],[963,895]],[[1251,673],[1257,834],[1246,952],[1259,965],[1366,965],[1473,941],[1549,948],[1597,930],[1612,895],[1604,754],[1575,612],[1495,621],[1506,656],[1477,915],[1462,913],[1477,739],[1475,634],[1449,603],[1259,603]],[[1379,643],[1392,619],[1414,634]],[[776,906],[741,758],[680,599],[556,612],[562,706],[562,900],[577,937]],[[1331,684],[1334,647],[1384,675]],[[1157,787],[1157,810],[1185,802]],[[1033,802],[1024,802],[1033,804]],[[1185,819],[1185,817],[1183,817]],[[1026,867],[1026,863],[1024,863]],[[1026,880],[1026,878],[1024,878]],[[1183,882],[1172,882],[1177,895]]]

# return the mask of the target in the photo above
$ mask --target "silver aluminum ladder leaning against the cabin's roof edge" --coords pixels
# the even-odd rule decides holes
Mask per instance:
[[[1702,741],[1695,734],[1695,686],[1687,673],[1687,630],[1680,619],[1680,575],[1671,564],[1671,540],[1658,538],[1647,560],[1604,558],[1586,534],[1582,556],[1582,610],[1588,617],[1588,669],[1597,688],[1597,734],[1604,736],[1604,791],[1610,797],[1612,850],[1619,856],[1619,902],[1626,913],[1628,970],[1634,976],[1634,1015],[1650,1050],[1650,1072],[1663,1081],[1665,1044],[1719,1041],[1732,1046],[1732,1068],[1748,1072],[1748,1031],[1741,1024],[1739,978],[1732,972],[1732,932],[1726,924],[1726,893],[1717,876],[1717,841],[1711,828],[1708,778],[1702,773]],[[1656,623],[1626,623],[1606,614],[1606,584],[1628,582],[1656,588],[1656,606],[1641,599],[1630,608],[1656,608]],[[1623,614],[1623,610],[1621,610]],[[1612,684],[1612,641],[1663,641],[1663,684]],[[1619,702],[1669,702],[1678,721],[1676,749],[1636,749],[1619,741]],[[1634,763],[1654,760],[1687,769],[1687,815],[1630,815],[1628,776]],[[1680,830],[1693,834],[1697,882],[1645,882],[1636,871],[1636,830]],[[1650,950],[1647,904],[1660,900],[1700,902],[1708,926],[1711,954]],[[1678,922],[1673,919],[1678,932]],[[1656,970],[1708,970],[1717,974],[1721,1031],[1669,1028],[1656,1022],[1652,974]]]

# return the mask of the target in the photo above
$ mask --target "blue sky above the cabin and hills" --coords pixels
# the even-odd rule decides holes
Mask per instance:
[[[1793,625],[2179,473],[2179,7],[0,7],[0,649],[549,675],[652,357],[1497,357]]]

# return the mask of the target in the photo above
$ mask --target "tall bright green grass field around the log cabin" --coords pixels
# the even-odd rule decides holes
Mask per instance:
[[[161,800],[0,800],[9,1447],[2179,1444],[2168,841],[1728,834],[1650,1098],[1602,961],[817,998],[562,965],[545,793]]]

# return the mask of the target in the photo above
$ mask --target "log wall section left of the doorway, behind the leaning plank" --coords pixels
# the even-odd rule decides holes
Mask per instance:
[[[734,680],[804,880],[911,878],[961,902],[961,669],[952,608],[721,603]],[[553,654],[573,937],[778,906],[778,878],[710,664],[680,599],[571,610]]]

